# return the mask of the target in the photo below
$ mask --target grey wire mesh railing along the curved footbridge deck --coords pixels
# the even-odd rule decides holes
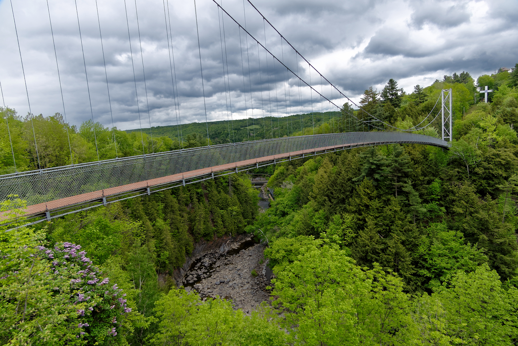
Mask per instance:
[[[49,202],[217,165],[299,150],[361,143],[421,143],[448,147],[435,137],[399,132],[348,132],[283,137],[112,159],[0,176],[0,194],[27,205]]]

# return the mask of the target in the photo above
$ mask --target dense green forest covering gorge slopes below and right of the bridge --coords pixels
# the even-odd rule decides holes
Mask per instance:
[[[477,89],[486,85],[494,90],[487,104]],[[402,129],[423,120],[440,90],[452,88],[451,149],[385,145],[271,165],[255,172],[271,175],[275,190],[262,213],[246,174],[31,227],[20,215],[24,201],[9,196],[2,210],[20,227],[4,226],[0,236],[0,340],[515,344],[517,87],[518,64],[477,81],[466,72],[444,76],[412,93],[393,79],[380,92],[369,88],[362,108]],[[324,118],[315,130],[347,130],[350,110],[345,104],[343,116]],[[26,160],[27,167],[34,162]],[[171,274],[196,242],[242,232],[268,238],[271,304],[246,314],[228,300],[177,287]]]

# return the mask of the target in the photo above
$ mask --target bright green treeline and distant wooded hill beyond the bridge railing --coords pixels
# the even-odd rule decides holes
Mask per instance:
[[[79,128],[70,126],[59,113],[23,117],[15,109],[0,107],[0,114],[6,120],[0,123],[0,175],[208,144],[205,123],[183,124],[181,128],[156,127],[151,132],[149,129],[121,131],[92,120],[83,122]],[[255,124],[252,118],[232,123],[209,122],[210,144],[322,133],[324,122],[329,133],[329,120],[338,118],[339,114],[314,112],[265,117],[255,119]]]

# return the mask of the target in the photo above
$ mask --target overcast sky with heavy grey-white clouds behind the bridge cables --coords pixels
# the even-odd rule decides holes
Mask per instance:
[[[140,126],[140,114],[143,128],[150,121],[165,126],[176,124],[178,115],[182,123],[205,121],[205,108],[208,120],[226,120],[231,106],[233,118],[336,110],[258,49],[212,0],[197,0],[204,105],[194,2],[168,1],[98,0],[98,21],[95,0],[77,0],[82,50],[74,1],[49,0],[70,123],[80,125],[93,114],[105,126],[111,127],[113,117],[119,129],[134,129]],[[315,90],[337,105],[345,102],[285,41],[281,44],[267,23],[263,26],[248,2],[244,11],[242,0],[219,3]],[[355,102],[366,88],[380,90],[389,78],[412,92],[414,85],[428,86],[445,74],[467,71],[476,79],[518,62],[515,0],[253,3],[316,70]],[[47,2],[12,0],[12,5],[31,110],[45,116],[63,113]],[[9,0],[0,0],[0,47],[5,104],[24,115],[29,108]]]

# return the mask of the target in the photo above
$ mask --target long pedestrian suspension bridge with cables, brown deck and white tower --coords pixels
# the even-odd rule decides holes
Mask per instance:
[[[135,77],[135,66],[132,50],[132,38],[130,35],[130,21],[127,16],[126,0],[124,8],[126,9],[126,23],[128,32],[128,41],[130,43],[131,62],[133,66],[133,76],[135,82],[135,98],[138,109],[138,118],[140,122],[139,105],[146,105],[149,117],[151,131],[151,116],[149,113],[148,89],[146,84],[145,66],[142,57],[142,45],[140,40],[140,29],[138,29],[138,39],[140,45],[140,53],[142,60],[142,82],[145,90],[145,100],[143,103],[138,99],[137,78]],[[198,0],[199,1],[199,0]],[[248,0],[247,0],[248,1]],[[34,135],[34,146],[37,154],[38,169],[25,172],[17,172],[0,176],[0,195],[6,198],[9,195],[18,195],[19,198],[27,201],[26,216],[32,218],[33,224],[43,220],[51,220],[69,213],[89,210],[100,205],[121,201],[136,196],[150,195],[153,192],[170,189],[172,187],[185,186],[195,182],[212,179],[221,175],[228,175],[237,172],[246,172],[253,168],[264,167],[269,164],[276,164],[284,161],[291,161],[299,158],[305,158],[320,154],[332,153],[340,150],[351,149],[362,146],[384,145],[384,144],[423,144],[440,148],[448,148],[452,133],[452,91],[442,90],[434,108],[429,114],[420,119],[418,124],[411,128],[397,128],[394,124],[390,124],[384,119],[379,119],[375,115],[369,114],[361,106],[351,101],[338,87],[324,77],[316,68],[306,59],[295,47],[281,35],[281,33],[272,25],[263,14],[250,2],[248,6],[250,18],[252,15],[257,16],[263,23],[264,37],[257,36],[256,32],[247,30],[246,25],[246,7],[243,1],[243,19],[239,22],[234,15],[225,10],[221,4],[212,0],[213,6],[218,10],[220,23],[220,40],[221,40],[221,65],[222,79],[224,82],[224,104],[226,104],[228,119],[228,143],[219,145],[210,145],[209,138],[210,128],[207,120],[207,103],[205,84],[208,82],[204,79],[204,66],[202,59],[202,49],[200,47],[200,36],[204,32],[199,31],[198,17],[196,12],[196,2],[193,0],[193,11],[196,18],[197,48],[199,57],[199,83],[203,92],[204,109],[201,110],[206,119],[206,134],[208,146],[197,148],[181,148],[174,151],[166,151],[155,153],[154,148],[151,153],[146,153],[144,148],[144,140],[142,136],[142,128],[140,128],[142,138],[142,155],[132,157],[117,157],[109,160],[98,160],[95,162],[75,163],[63,167],[43,168],[40,164],[40,154],[38,153],[38,143],[36,135]],[[98,16],[97,2],[95,2],[97,10],[97,20],[99,27],[99,38],[103,43],[100,20]],[[171,23],[169,17],[169,3],[164,1],[164,21],[165,32],[167,36],[167,46],[169,51],[170,66],[170,83],[174,98],[174,107],[176,114],[176,126],[178,130],[178,138],[181,141],[181,118],[180,118],[180,93],[181,86],[175,80],[176,65],[171,57],[174,57],[173,51],[173,33],[171,31]],[[47,2],[49,23],[52,27],[50,6]],[[16,12],[12,7],[13,25],[16,29]],[[135,11],[137,11],[137,2],[135,1]],[[79,27],[79,35],[81,35],[81,25],[79,20],[79,12],[77,11],[77,24]],[[138,13],[136,16],[138,26]],[[224,20],[227,20],[225,24]],[[228,24],[231,23],[231,25]],[[226,25],[226,26],[225,26]],[[267,45],[266,26],[276,39],[280,41],[280,45]],[[234,29],[238,35],[234,39],[228,37],[231,29]],[[226,30],[226,32],[225,32]],[[18,31],[16,31],[18,35]],[[53,35],[53,34],[52,34]],[[235,37],[239,36],[239,40]],[[22,65],[23,77],[26,86],[25,70],[23,69],[23,54],[19,45],[20,62]],[[54,43],[54,36],[52,36]],[[237,43],[239,48],[233,51],[240,51],[237,60],[237,68],[229,71],[227,43]],[[81,38],[82,47],[82,38]],[[103,47],[103,46],[102,46]],[[286,48],[284,48],[286,47]],[[277,52],[277,50],[280,51]],[[286,50],[284,50],[286,49]],[[291,58],[289,55],[291,54]],[[59,74],[58,57],[55,51],[57,73]],[[82,49],[84,61],[84,49]],[[246,57],[246,59],[243,59]],[[173,58],[174,59],[174,58]],[[106,61],[104,57],[104,72],[106,79],[106,90],[110,103],[110,116],[113,126],[112,104],[109,96],[109,78],[106,70]],[[255,61],[255,62],[251,62]],[[231,64],[232,65],[232,64]],[[168,73],[169,73],[168,72]],[[84,74],[89,90],[87,64],[84,61]],[[238,76],[239,78],[234,78]],[[315,81],[316,76],[316,81]],[[1,76],[0,76],[1,77]],[[240,87],[235,86],[235,79],[242,79]],[[248,81],[248,83],[247,83]],[[325,91],[324,91],[325,88]],[[63,96],[63,88],[61,85],[61,100],[63,103],[63,114],[65,115],[65,100]],[[319,90],[320,89],[320,90]],[[27,93],[27,103],[30,109],[30,95]],[[275,98],[272,97],[275,93]],[[266,97],[268,94],[268,97]],[[279,98],[279,94],[281,97]],[[292,96],[293,94],[293,96]],[[342,102],[350,102],[355,105],[359,111],[356,113],[351,109],[342,107]],[[255,103],[255,106],[254,106]],[[280,104],[280,105],[279,105]],[[333,111],[340,112],[337,119],[329,116],[328,122],[323,119],[324,105],[326,110],[332,114]],[[5,107],[5,104],[4,104]],[[92,121],[94,120],[94,110],[90,101],[90,113]],[[233,109],[234,107],[234,109]],[[244,112],[247,119],[252,122],[253,134],[248,131],[247,141],[233,141],[233,116],[236,116],[238,109],[241,107],[241,113]],[[284,110],[283,110],[284,108]],[[287,133],[281,135],[280,126],[277,128],[277,137],[274,133],[275,124],[271,124],[270,134],[266,131],[265,118],[266,115],[275,116],[279,119],[282,115],[291,115],[299,111],[303,114],[303,110],[309,112],[313,108],[319,110],[322,114],[322,131],[317,127],[315,131],[315,123],[312,123],[312,133],[305,133],[303,124],[301,124],[302,135],[295,135],[293,120],[291,124],[291,135],[289,132],[290,124],[287,124]],[[320,109],[319,109],[320,108]],[[255,115],[254,115],[255,112]],[[30,115],[32,116],[31,110]],[[144,113],[144,112],[142,112]],[[250,117],[248,114],[251,114]],[[260,116],[255,117],[260,114]],[[7,121],[7,118],[6,118]],[[248,121],[248,120],[247,120]],[[278,120],[279,121],[279,120]],[[140,122],[141,123],[141,122]],[[264,127],[263,138],[256,138],[255,124]],[[327,127],[326,127],[327,124]],[[7,126],[9,124],[7,123]],[[231,130],[232,127],[232,130]],[[9,127],[8,131],[9,131]],[[113,126],[114,128],[114,126]],[[326,130],[327,129],[327,130]],[[95,131],[95,130],[94,130]],[[321,133],[319,133],[321,132]],[[34,128],[33,128],[34,133]],[[270,136],[271,135],[271,136]],[[270,138],[267,138],[270,136]],[[95,132],[94,132],[95,137]],[[11,138],[9,132],[9,139]],[[115,141],[115,136],[113,136]],[[153,137],[151,136],[151,141]],[[95,137],[95,141],[97,138]],[[180,142],[182,143],[182,142]],[[97,142],[95,142],[97,148]],[[115,143],[117,149],[117,143]],[[15,154],[11,145],[11,153],[13,163],[16,167]],[[70,147],[71,161],[72,149]],[[97,149],[98,150],[98,149]],[[99,153],[97,151],[97,157]]]

